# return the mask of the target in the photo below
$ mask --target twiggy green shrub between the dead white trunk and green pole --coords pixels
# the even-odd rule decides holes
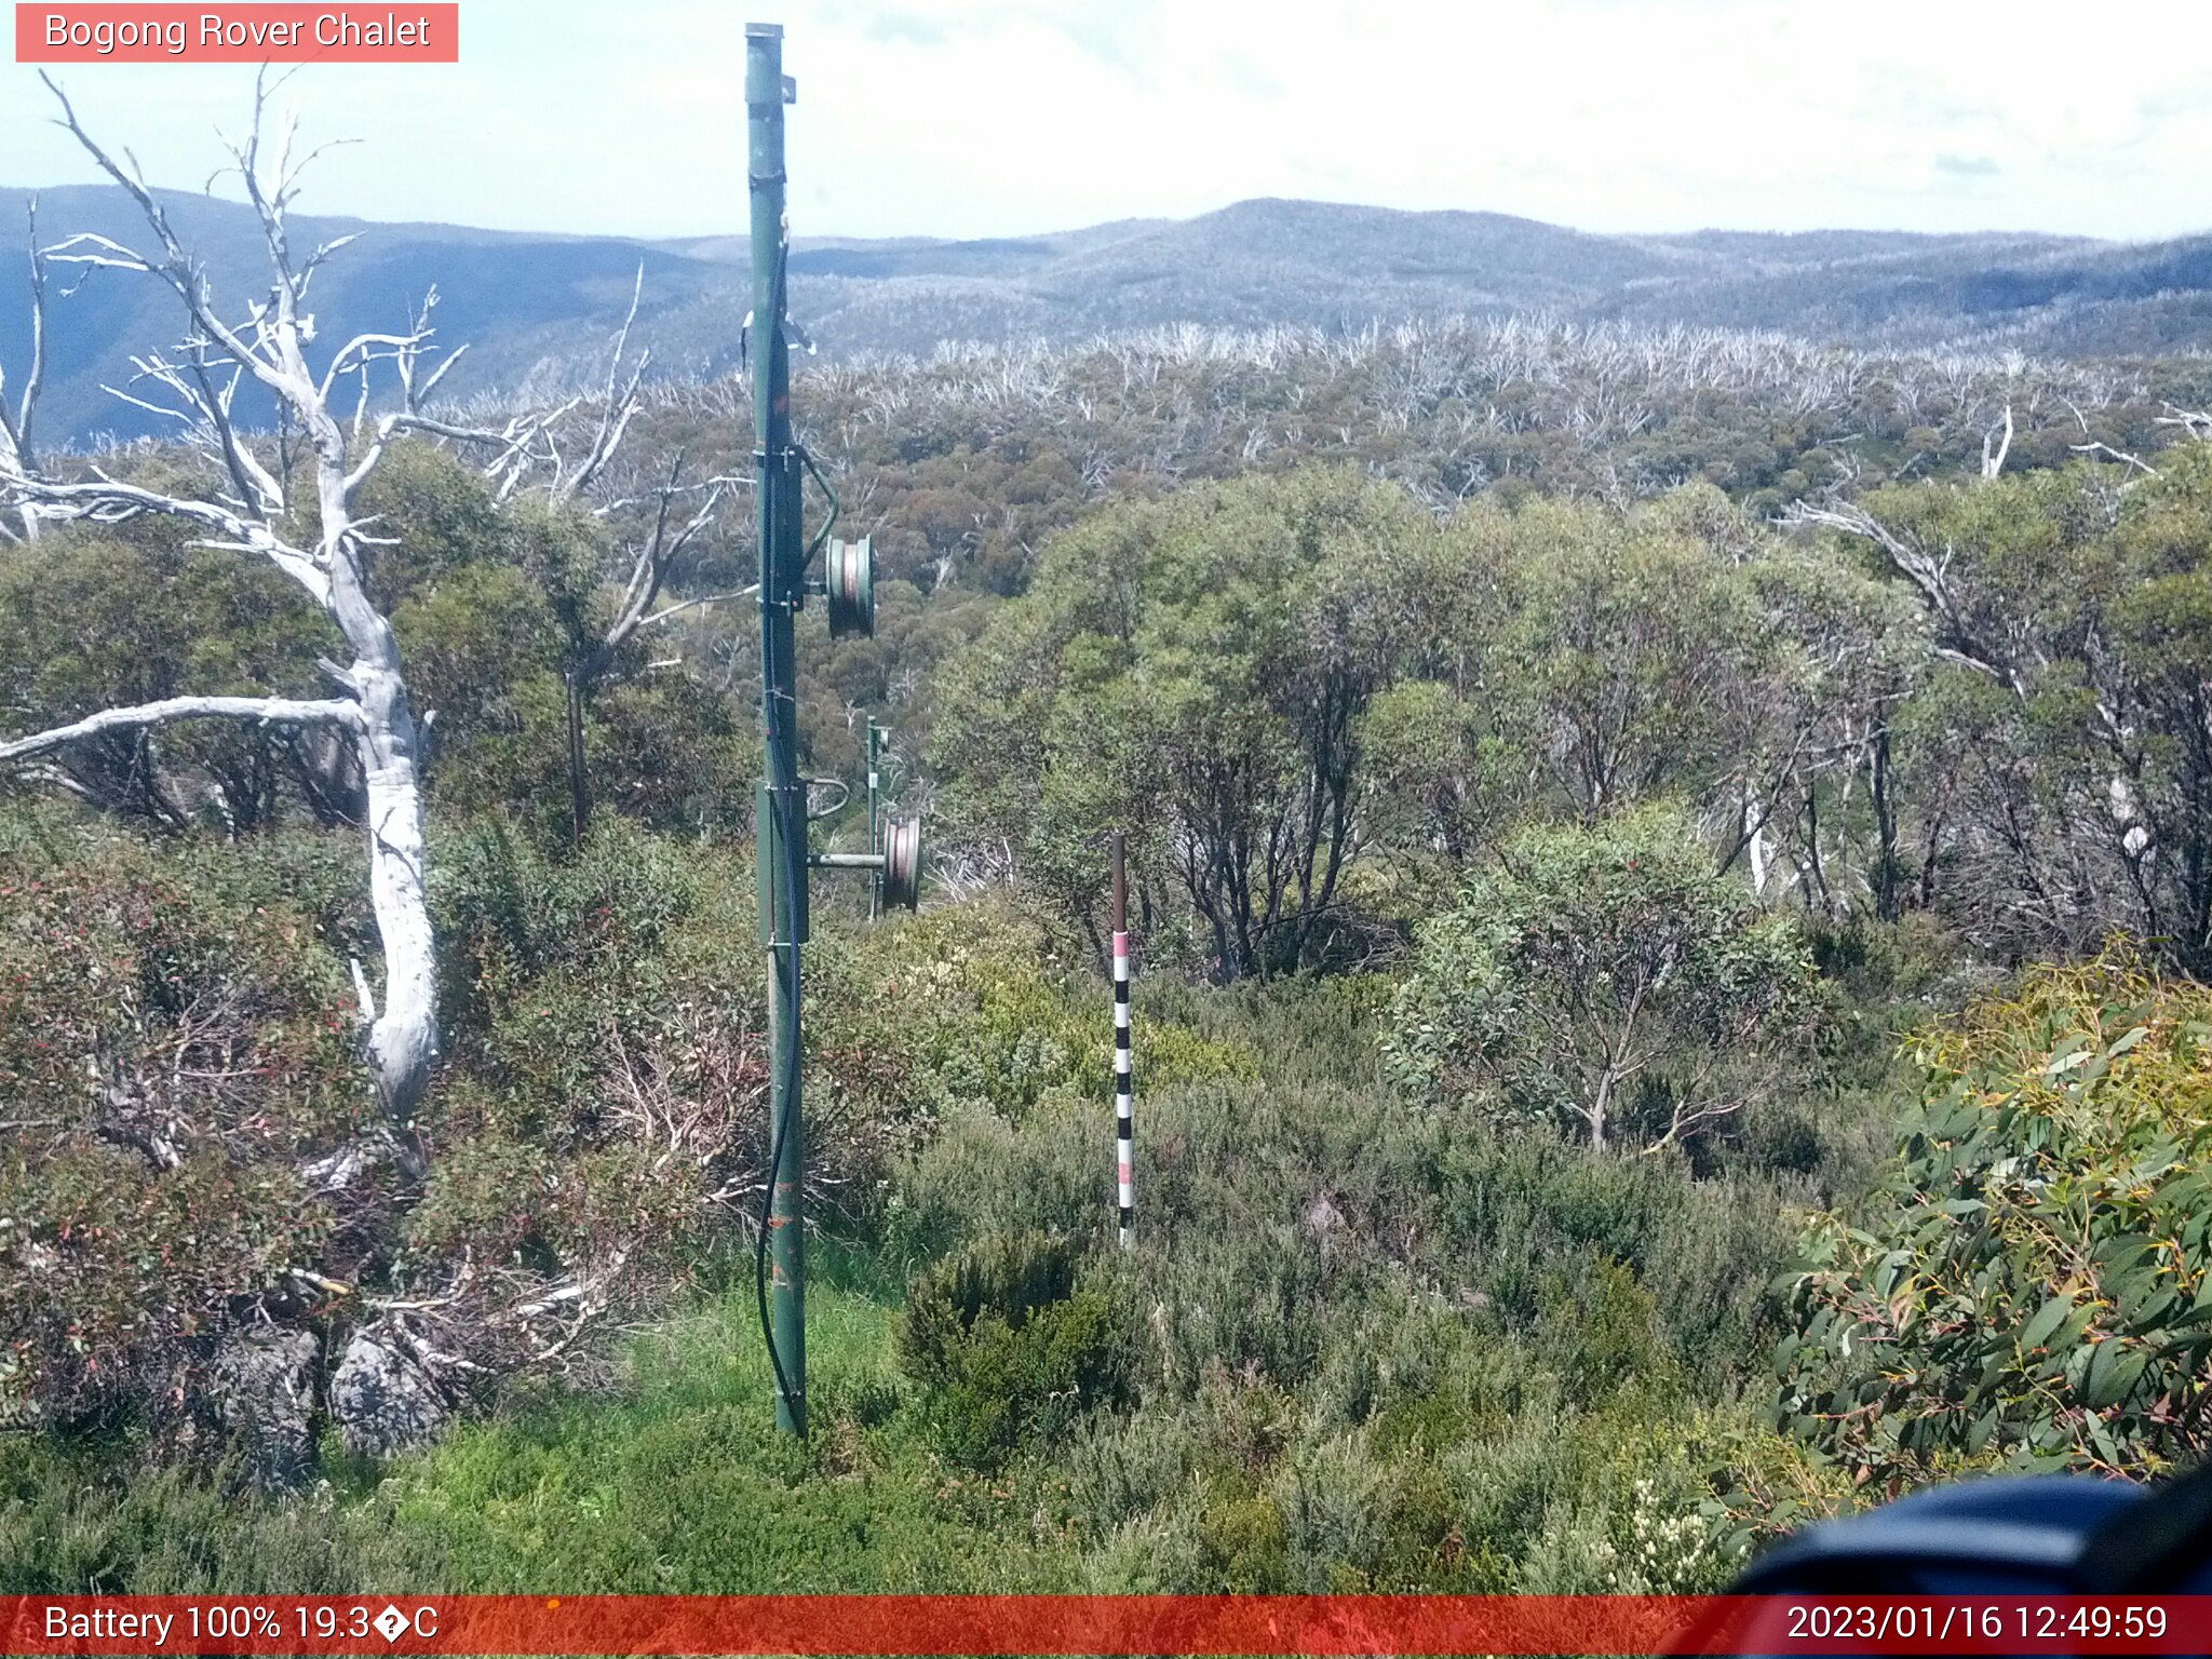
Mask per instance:
[[[396,1272],[438,1283],[473,1259],[518,1301],[568,1276],[608,1325],[666,1312],[739,1254],[768,1157],[750,860],[617,814],[571,852],[482,821],[434,863],[434,905],[447,1064]],[[807,1108],[810,1197],[841,1221],[874,1201],[891,1130],[830,1091]]]

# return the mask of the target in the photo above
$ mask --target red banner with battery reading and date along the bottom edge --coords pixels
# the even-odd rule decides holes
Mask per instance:
[[[0,1655],[2212,1652],[2212,1597],[0,1597]]]

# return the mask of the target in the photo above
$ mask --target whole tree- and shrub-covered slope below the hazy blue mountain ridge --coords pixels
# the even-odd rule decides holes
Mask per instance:
[[[805,367],[880,560],[872,639],[801,615],[814,845],[876,717],[931,860],[816,885],[794,1442],[745,387],[641,307],[575,403],[338,420],[270,316],[281,434],[179,367],[175,442],[0,453],[0,1588],[1686,1590],[2199,1455],[2197,363]]]

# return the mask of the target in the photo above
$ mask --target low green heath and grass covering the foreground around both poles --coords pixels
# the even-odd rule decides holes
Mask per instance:
[[[918,945],[885,929],[858,958]],[[940,1018],[989,1029],[991,998]],[[327,1455],[292,1500],[226,1500],[131,1440],[0,1440],[0,1582],[1710,1588],[1787,1504],[1838,1502],[1725,1405],[1776,1332],[1781,1212],[1809,1188],[1383,1110],[1371,1018],[1358,980],[1148,989],[1141,1033],[1265,1066],[1148,1093],[1128,1259],[1102,1093],[942,1095],[880,1237],[827,1252],[807,1447],[770,1427],[743,1281],[641,1336],[597,1396],[511,1387],[425,1453]],[[911,1259],[905,1318],[834,1287],[896,1285]]]

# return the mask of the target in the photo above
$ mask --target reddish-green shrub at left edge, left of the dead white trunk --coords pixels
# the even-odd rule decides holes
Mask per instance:
[[[345,969],[195,863],[60,821],[0,852],[0,1413],[188,1413],[228,1329],[374,1248],[301,1172],[376,1119]]]

